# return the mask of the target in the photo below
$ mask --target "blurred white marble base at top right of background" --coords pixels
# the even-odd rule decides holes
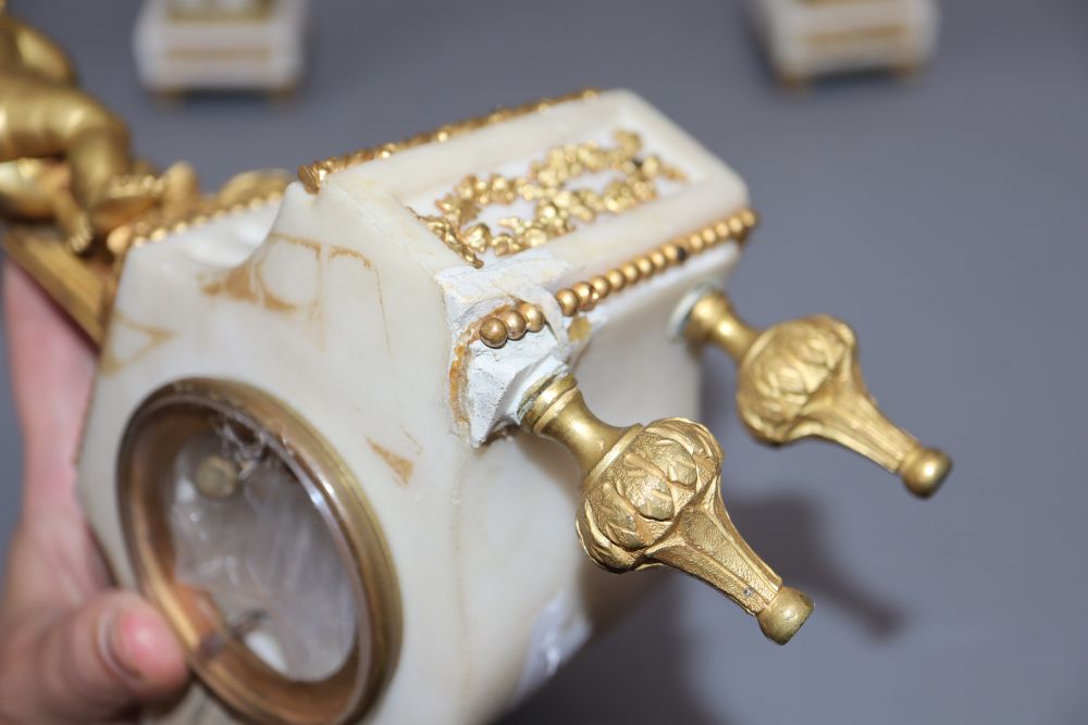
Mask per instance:
[[[778,76],[803,83],[850,71],[924,66],[937,41],[935,0],[753,0]]]

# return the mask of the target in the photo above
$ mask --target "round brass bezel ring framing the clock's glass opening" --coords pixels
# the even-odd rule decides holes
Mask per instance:
[[[159,484],[163,461],[199,430],[201,413],[256,430],[306,487],[353,580],[357,639],[329,677],[293,680],[226,634],[218,608],[172,576],[173,541]],[[300,415],[242,383],[187,378],[151,393],[129,418],[118,457],[118,504],[140,590],[165,614],[197,677],[244,717],[276,725],[325,725],[367,712],[394,671],[401,638],[400,595],[385,537],[358,482],[332,447]],[[360,666],[366,655],[366,666]]]

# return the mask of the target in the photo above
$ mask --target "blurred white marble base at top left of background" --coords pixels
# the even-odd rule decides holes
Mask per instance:
[[[177,17],[145,0],[133,32],[140,83],[158,92],[289,91],[305,66],[309,0],[275,0],[265,16]]]

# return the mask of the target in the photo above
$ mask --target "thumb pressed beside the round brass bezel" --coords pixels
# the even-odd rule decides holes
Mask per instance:
[[[135,592],[103,592],[59,618],[26,622],[11,634],[14,651],[0,662],[0,698],[35,692],[29,712],[17,713],[16,722],[109,721],[178,693],[187,679],[170,625]]]

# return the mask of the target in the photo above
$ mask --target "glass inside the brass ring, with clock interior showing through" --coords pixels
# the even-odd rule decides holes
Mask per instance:
[[[367,651],[370,632],[357,628],[351,577],[313,486],[265,432],[214,413],[207,423],[163,466],[174,582],[212,602],[227,632],[285,677],[324,679]]]

